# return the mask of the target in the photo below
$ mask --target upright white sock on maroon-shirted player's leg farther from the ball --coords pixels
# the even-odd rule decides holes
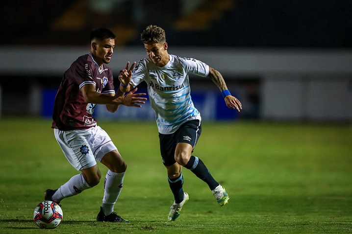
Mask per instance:
[[[104,197],[102,199],[102,211],[109,215],[114,211],[114,206],[119,198],[124,182],[125,172],[116,173],[108,170],[104,183]]]

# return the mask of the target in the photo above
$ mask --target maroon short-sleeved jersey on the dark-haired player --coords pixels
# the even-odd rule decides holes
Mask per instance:
[[[105,65],[100,69],[91,54],[78,57],[65,71],[57,91],[52,128],[66,131],[88,129],[97,125],[92,116],[95,104],[86,103],[80,91],[86,84],[95,85],[98,93],[115,94],[112,70]]]

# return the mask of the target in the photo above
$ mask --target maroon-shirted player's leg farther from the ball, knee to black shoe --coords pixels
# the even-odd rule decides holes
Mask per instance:
[[[109,170],[105,176],[104,196],[97,220],[105,222],[128,222],[117,215],[116,212],[113,212],[115,203],[123,187],[127,164],[122,159],[118,150],[113,150],[105,154],[101,159],[101,163]]]

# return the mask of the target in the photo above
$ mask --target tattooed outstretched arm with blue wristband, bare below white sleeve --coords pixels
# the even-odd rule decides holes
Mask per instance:
[[[241,102],[234,96],[230,94],[230,92],[227,89],[224,77],[221,75],[221,73],[211,67],[209,67],[209,75],[208,75],[211,80],[218,86],[218,88],[221,91],[221,94],[223,94],[223,97],[226,102],[226,106],[230,109],[236,109],[237,111],[242,110],[242,104]]]

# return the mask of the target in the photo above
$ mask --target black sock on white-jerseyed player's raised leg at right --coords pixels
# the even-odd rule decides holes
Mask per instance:
[[[198,178],[204,181],[211,190],[219,185],[199,158],[191,156],[185,167],[190,169]]]

